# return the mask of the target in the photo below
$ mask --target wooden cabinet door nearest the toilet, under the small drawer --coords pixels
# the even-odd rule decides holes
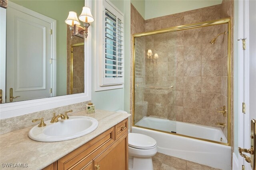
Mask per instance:
[[[128,133],[94,159],[94,170],[128,170]]]

